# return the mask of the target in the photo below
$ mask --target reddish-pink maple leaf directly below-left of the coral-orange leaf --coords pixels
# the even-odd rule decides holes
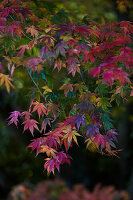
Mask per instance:
[[[24,130],[23,131],[26,131],[29,128],[29,130],[30,130],[32,135],[33,135],[34,128],[36,128],[39,131],[39,128],[36,125],[36,124],[38,124],[38,122],[36,120],[34,120],[34,119],[27,119],[22,124],[24,124]]]

